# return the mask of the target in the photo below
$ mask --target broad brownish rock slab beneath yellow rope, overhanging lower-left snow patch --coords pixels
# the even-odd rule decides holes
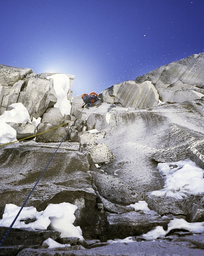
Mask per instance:
[[[63,145],[68,144],[63,143]],[[93,238],[103,231],[100,228],[93,229],[96,223],[100,226],[101,220],[95,207],[96,194],[91,184],[92,177],[87,172],[89,163],[84,154],[67,150],[63,145],[43,174],[27,206],[34,206],[37,211],[41,211],[50,203],[68,202],[76,205],[78,208],[75,212],[74,226],[82,228],[84,237]],[[51,146],[53,147],[53,144]],[[49,144],[46,146],[35,142],[11,144],[1,149],[1,216],[6,204],[22,205],[54,152],[55,148],[49,147]],[[12,168],[13,163],[15,168]]]

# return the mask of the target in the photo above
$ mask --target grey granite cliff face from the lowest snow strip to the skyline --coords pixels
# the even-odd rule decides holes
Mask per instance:
[[[62,111],[64,103],[61,107],[56,104],[60,97],[54,89],[55,80],[49,78],[54,74],[37,75],[31,69],[1,65],[0,120],[13,103],[22,103],[30,117],[25,123],[8,123],[17,138],[62,126],[37,135],[35,141],[0,147],[0,218],[6,204],[22,205],[72,120],[82,111],[27,206],[37,211],[45,210],[50,203],[77,206],[74,225],[81,227],[86,240],[137,238],[153,227],[167,226],[173,218],[203,222],[204,191],[192,192],[186,184],[167,190],[167,174],[157,168],[158,163],[167,162],[168,172],[172,172],[182,168],[178,161],[187,158],[204,168],[203,58],[203,53],[192,55],[135,81],[113,85],[102,92],[102,100],[83,111],[80,97],[71,102],[74,77],[63,74],[61,84],[65,76],[68,78],[64,91],[69,113]],[[34,123],[37,118],[38,126]],[[25,131],[28,127],[29,133]],[[190,167],[186,168],[189,171]],[[130,207],[141,201],[148,203],[148,212]],[[1,230],[3,235],[5,229]],[[12,232],[11,236],[16,236]],[[33,238],[36,246],[42,244],[45,234],[42,239]],[[57,233],[49,236],[67,242]],[[23,244],[22,240],[22,244],[11,240],[5,240],[4,245]]]

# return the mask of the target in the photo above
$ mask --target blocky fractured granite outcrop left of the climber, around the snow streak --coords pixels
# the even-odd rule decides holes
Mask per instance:
[[[9,106],[13,103],[22,103],[27,108],[30,115],[31,121],[33,118],[43,118],[41,123],[49,123],[52,126],[58,126],[59,123],[65,123],[65,116],[62,116],[58,108],[52,109],[57,102],[56,90],[54,89],[54,75],[65,75],[69,85],[67,85],[68,91],[66,98],[71,101],[72,90],[71,86],[74,82],[74,76],[68,74],[57,74],[57,73],[42,73],[36,74],[32,69],[23,69],[0,65],[0,115],[4,111],[8,110]],[[71,104],[67,106],[71,108]],[[59,120],[60,119],[60,120]],[[28,127],[27,127],[28,126]],[[13,125],[13,128],[17,131],[17,138],[26,138],[30,135],[37,133],[37,128],[34,128],[30,133],[30,124]],[[39,126],[40,132],[46,131],[46,125]],[[63,128],[62,128],[63,129]],[[29,130],[29,132],[28,132]],[[63,129],[62,132],[64,132]],[[39,133],[39,131],[38,131]],[[41,137],[42,142],[56,142],[59,141],[61,135],[59,134],[58,139],[49,140]]]

